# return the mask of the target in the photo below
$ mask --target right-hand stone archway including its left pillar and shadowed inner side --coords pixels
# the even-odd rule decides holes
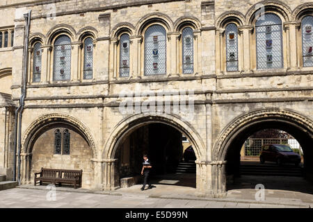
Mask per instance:
[[[223,162],[223,165],[220,175],[212,171],[212,187],[214,193],[225,194],[226,164],[236,164],[236,162],[231,163],[230,160],[236,159],[234,155],[238,153],[237,148],[239,144],[242,146],[251,132],[265,128],[284,130],[298,140],[305,153],[305,171],[307,178],[313,178],[313,121],[291,110],[268,108],[255,110],[241,117],[237,117],[220,133],[214,145],[212,158],[215,161]]]

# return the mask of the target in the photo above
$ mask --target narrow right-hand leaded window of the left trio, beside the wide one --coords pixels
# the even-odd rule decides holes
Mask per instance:
[[[83,78],[93,78],[93,39],[86,38],[83,42]]]

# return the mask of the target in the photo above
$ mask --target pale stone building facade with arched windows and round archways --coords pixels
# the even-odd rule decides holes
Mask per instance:
[[[200,194],[225,194],[243,142],[263,128],[298,140],[312,178],[312,1],[7,0],[0,12],[0,173],[8,178],[24,53],[22,184],[41,167],[56,167],[83,169],[84,188],[117,189],[117,153],[152,123],[191,142]],[[177,94],[192,94],[193,118],[120,110],[121,92],[143,104],[165,91],[172,96],[159,96],[161,107],[170,110]]]

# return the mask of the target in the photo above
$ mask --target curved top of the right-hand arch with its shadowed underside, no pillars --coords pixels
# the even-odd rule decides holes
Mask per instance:
[[[271,128],[272,123],[277,123],[278,128],[293,135],[301,146],[302,144],[310,144],[310,141],[304,141],[304,137],[310,138],[311,144],[313,142],[313,121],[303,114],[298,114],[292,110],[281,110],[280,108],[255,110],[237,117],[224,128],[214,145],[213,158],[225,160],[230,144],[236,138],[251,134],[251,129],[262,129],[264,124],[266,128]],[[296,130],[299,130],[298,133]]]

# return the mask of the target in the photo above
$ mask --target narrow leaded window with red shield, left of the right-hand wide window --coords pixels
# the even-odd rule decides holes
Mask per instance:
[[[238,71],[238,28],[236,24],[228,24],[225,28],[226,70]]]

